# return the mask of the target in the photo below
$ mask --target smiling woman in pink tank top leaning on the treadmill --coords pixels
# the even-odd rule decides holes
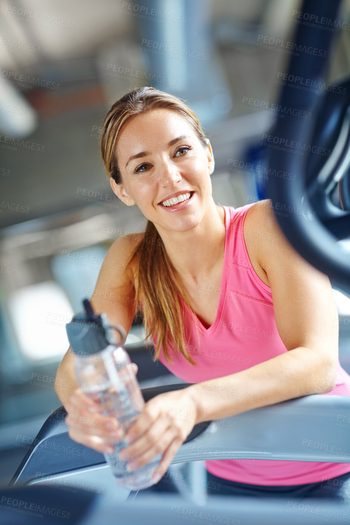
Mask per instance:
[[[212,148],[186,104],[153,88],[135,89],[110,108],[100,145],[112,190],[127,206],[136,204],[148,224],[146,232],[110,247],[92,306],[129,331],[137,304],[154,359],[194,383],[146,403],[125,435],[133,443],[119,454],[135,458],[130,469],[162,453],[161,479],[200,421],[309,394],[346,394],[350,376],[338,361],[338,316],[328,278],[286,241],[270,201],[237,209],[214,203]],[[71,349],[55,386],[69,436],[102,453],[114,451],[111,443],[122,437],[117,420],[102,416],[75,388]],[[190,415],[177,416],[182,409]],[[78,423],[91,419],[89,411],[95,424]],[[104,429],[106,423],[113,429]],[[350,479],[346,463],[205,465],[209,480],[219,481],[219,493],[319,495],[322,481],[336,478],[336,490],[323,492],[340,498]]]

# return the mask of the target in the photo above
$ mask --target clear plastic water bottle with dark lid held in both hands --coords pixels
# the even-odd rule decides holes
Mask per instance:
[[[85,312],[78,313],[66,324],[68,339],[76,356],[75,373],[80,389],[102,405],[102,414],[116,417],[126,432],[145,405],[129,355],[122,348],[127,333],[120,325],[111,327],[106,314],[94,314],[88,299],[84,299],[83,304]],[[119,332],[119,342],[112,330]],[[126,467],[131,458],[128,461],[118,458],[118,452],[127,444],[121,439],[113,445],[115,452],[104,456],[120,487],[139,490],[156,484],[152,474],[162,454],[148,465],[128,472]]]

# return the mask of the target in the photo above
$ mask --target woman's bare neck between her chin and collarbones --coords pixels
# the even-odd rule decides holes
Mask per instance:
[[[168,257],[181,280],[197,282],[222,261],[225,246],[224,209],[213,198],[200,224],[188,232],[160,231]]]

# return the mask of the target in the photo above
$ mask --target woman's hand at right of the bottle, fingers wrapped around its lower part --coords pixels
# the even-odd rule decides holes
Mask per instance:
[[[158,482],[164,476],[198,416],[197,403],[189,388],[153,397],[128,428],[124,439],[133,443],[120,450],[119,458],[127,461],[132,458],[127,467],[131,471],[147,465],[163,453],[152,477]]]

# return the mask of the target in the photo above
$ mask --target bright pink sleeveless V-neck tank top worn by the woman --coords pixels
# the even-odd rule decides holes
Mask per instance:
[[[200,346],[192,318],[189,323],[188,350],[198,365],[192,366],[182,354],[169,349],[173,360],[170,364],[160,349],[160,361],[187,383],[240,372],[287,352],[277,331],[271,288],[256,275],[245,246],[243,223],[252,205],[236,209],[223,206],[226,236],[219,307],[211,327],[205,329],[199,321]],[[210,293],[210,287],[203,292]],[[153,340],[155,348],[156,341],[157,338]],[[349,392],[350,376],[338,361],[336,386],[322,395],[350,395]],[[267,459],[210,460],[205,461],[205,467],[220,478],[272,486],[303,485],[350,472],[347,463]]]

